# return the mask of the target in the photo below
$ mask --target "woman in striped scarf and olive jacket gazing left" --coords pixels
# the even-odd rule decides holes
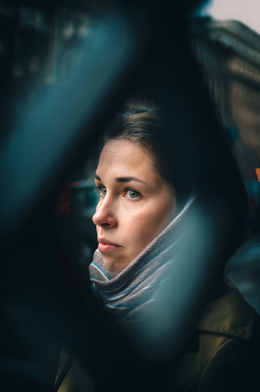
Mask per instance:
[[[163,328],[170,323],[170,312],[165,312],[165,301],[171,300],[175,272],[178,277],[174,268],[193,225],[188,218],[197,197],[191,181],[187,183],[164,155],[162,129],[152,109],[137,107],[117,117],[95,175],[100,199],[93,222],[99,245],[90,265],[92,290],[122,325],[135,330],[139,344],[147,332],[167,334]],[[223,270],[218,272],[180,350],[172,374],[175,390],[239,390],[245,386],[244,374],[250,376],[246,358],[256,342],[258,318]],[[146,327],[143,335],[140,324]],[[167,355],[161,342],[157,356]],[[77,390],[71,387],[75,374],[71,367],[60,392]],[[78,377],[82,381],[84,376]]]

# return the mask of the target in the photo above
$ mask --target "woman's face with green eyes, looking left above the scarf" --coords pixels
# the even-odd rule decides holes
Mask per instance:
[[[98,249],[106,269],[119,274],[172,221],[174,197],[150,153],[127,140],[106,143],[95,183]]]

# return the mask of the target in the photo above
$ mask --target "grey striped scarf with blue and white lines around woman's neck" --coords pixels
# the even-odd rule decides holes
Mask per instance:
[[[191,194],[178,216],[118,275],[106,270],[102,254],[95,251],[89,267],[92,289],[117,318],[138,319],[156,301],[161,284],[178,258],[177,245],[182,236],[179,225],[195,198]]]

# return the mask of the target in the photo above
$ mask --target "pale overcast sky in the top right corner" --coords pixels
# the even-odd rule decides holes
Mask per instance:
[[[240,20],[260,33],[260,0],[210,0],[201,14]]]

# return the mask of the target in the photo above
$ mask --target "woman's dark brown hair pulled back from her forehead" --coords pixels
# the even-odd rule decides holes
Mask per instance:
[[[165,153],[162,132],[163,121],[159,109],[133,107],[125,114],[119,114],[104,136],[103,146],[110,140],[129,140],[144,147],[150,152],[157,173],[168,182],[175,197],[177,209],[181,207],[191,192],[176,167],[173,167],[172,157]],[[164,136],[165,137],[165,136]]]

